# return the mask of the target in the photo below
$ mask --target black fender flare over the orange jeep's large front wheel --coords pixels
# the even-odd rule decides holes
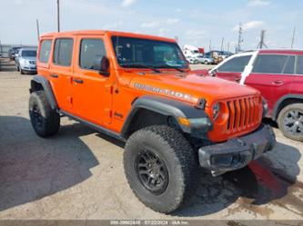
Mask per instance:
[[[180,123],[179,125],[184,133],[190,133],[190,135],[194,137],[205,137],[206,133],[213,129],[213,124],[203,109],[196,108],[188,103],[167,99],[165,97],[144,95],[137,98],[132,104],[131,111],[128,113],[126,122],[124,123],[121,131],[122,137],[127,137],[127,133],[132,126],[132,122],[136,118],[136,113],[141,109],[174,117],[177,122],[179,117],[188,119],[190,126],[185,126]]]

